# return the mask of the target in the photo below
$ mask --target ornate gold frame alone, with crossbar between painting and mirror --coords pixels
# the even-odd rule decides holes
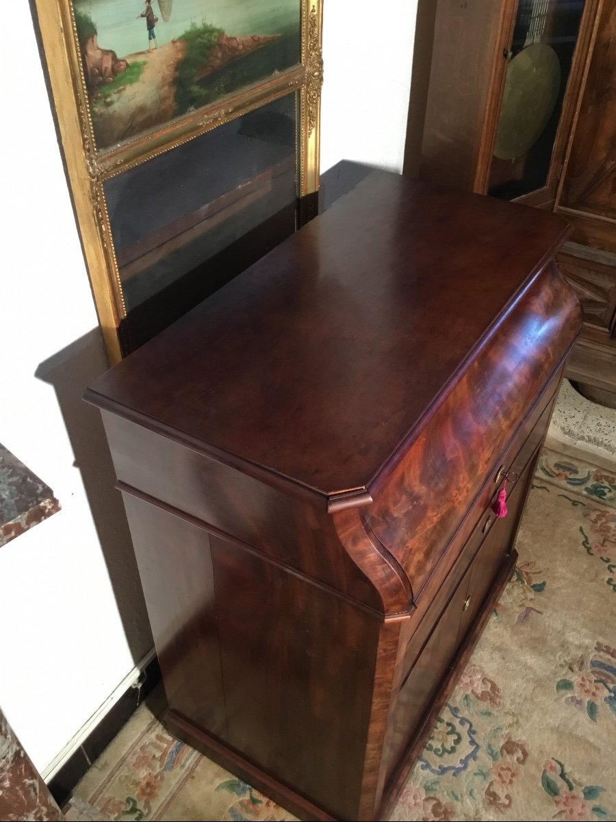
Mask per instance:
[[[323,0],[301,0],[301,65],[217,100],[119,147],[98,150],[76,41],[71,0],[34,0],[76,221],[109,361],[122,359],[126,316],[103,182],[177,145],[241,117],[292,90],[300,92],[299,191],[319,188],[319,107],[323,84]]]

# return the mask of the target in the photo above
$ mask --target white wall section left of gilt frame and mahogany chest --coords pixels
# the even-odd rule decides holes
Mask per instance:
[[[4,38],[0,49],[0,442],[52,487],[62,510],[0,547],[0,706],[43,771],[131,671],[133,654],[149,649],[151,637],[137,593],[135,613],[126,614],[131,653],[108,575],[113,556],[124,563],[130,549],[119,500],[114,506],[115,492],[103,490],[115,520],[106,560],[86,499],[84,471],[95,476],[97,461],[102,465],[108,455],[98,412],[79,396],[108,366],[98,330],[90,333],[97,318],[29,4],[13,3],[5,24],[19,34]],[[34,376],[62,351],[43,367],[43,378]],[[87,443],[81,459],[94,464],[73,464],[79,443]],[[134,585],[130,557],[126,562]]]

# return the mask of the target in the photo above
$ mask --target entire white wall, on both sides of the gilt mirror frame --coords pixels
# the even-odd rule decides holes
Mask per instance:
[[[322,169],[353,159],[400,171],[416,0],[325,5]],[[10,123],[0,137],[0,442],[53,488],[62,511],[0,547],[0,706],[44,771],[145,653],[149,634],[98,412],[79,399],[106,362],[28,3],[12,3],[3,28],[19,35],[0,49]],[[112,584],[114,564],[122,573]]]

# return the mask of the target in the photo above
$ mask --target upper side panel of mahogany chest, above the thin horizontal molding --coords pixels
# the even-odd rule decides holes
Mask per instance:
[[[289,496],[116,414],[103,411],[103,423],[123,491],[140,492],[375,610],[382,607],[340,544],[324,504]]]

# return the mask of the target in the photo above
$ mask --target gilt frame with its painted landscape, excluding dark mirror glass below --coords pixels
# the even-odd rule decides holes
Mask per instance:
[[[116,363],[134,346],[122,336],[130,312],[108,207],[112,181],[145,164],[147,178],[163,155],[181,178],[183,145],[236,120],[235,131],[246,134],[254,125],[248,115],[293,95],[299,211],[319,187],[322,0],[34,0],[34,7],[94,302]],[[275,126],[280,114],[269,117]],[[204,202],[194,213],[208,208]]]

